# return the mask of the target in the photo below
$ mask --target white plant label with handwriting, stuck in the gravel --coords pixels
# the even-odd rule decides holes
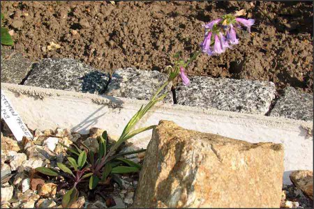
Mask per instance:
[[[33,139],[33,135],[22,121],[21,116],[15,111],[6,95],[1,91],[1,118],[6,121],[6,124],[13,133],[17,141],[22,141],[23,137]]]

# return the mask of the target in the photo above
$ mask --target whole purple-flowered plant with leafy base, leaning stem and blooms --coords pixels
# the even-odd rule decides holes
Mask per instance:
[[[239,22],[247,26],[249,30],[250,26],[254,23],[254,20],[245,20],[236,18],[236,16],[237,15],[224,15],[221,19],[214,20],[209,22],[209,24],[204,25],[206,33],[204,42],[201,45],[202,49],[195,52],[187,61],[180,59],[181,52],[174,54],[174,65],[169,65],[165,69],[169,75],[167,81],[158,88],[151,100],[149,100],[145,106],[142,105],[140,110],[130,119],[116,143],[110,144],[108,142],[107,132],[105,131],[100,137],[97,137],[99,147],[96,152],[90,150],[87,146],[84,146],[84,144],[81,144],[83,146],[82,149],[75,144],[75,148],[66,146],[70,153],[72,153],[72,156],[67,157],[68,162],[66,162],[66,164],[57,163],[60,171],[46,167],[39,167],[36,169],[36,171],[48,176],[63,176],[63,178],[65,178],[65,181],[59,185],[59,189],[61,187],[67,187],[69,189],[63,196],[63,208],[68,208],[74,201],[76,201],[79,195],[77,184],[87,183],[88,178],[89,189],[94,189],[98,183],[105,183],[109,176],[111,176],[118,184],[121,184],[121,182],[119,183],[119,178],[115,176],[116,174],[140,171],[140,164],[125,159],[124,155],[140,153],[144,151],[144,149],[127,153],[117,153],[117,148],[119,148],[124,141],[134,137],[136,134],[140,134],[141,132],[156,127],[156,125],[151,125],[133,130],[137,122],[140,121],[147,111],[149,111],[151,107],[154,107],[157,102],[162,101],[166,97],[167,93],[162,92],[170,82],[173,82],[179,76],[184,85],[190,84],[190,80],[184,71],[198,55],[202,52],[209,55],[221,54],[225,52],[226,48],[231,48],[231,45],[238,43],[233,25],[237,25],[237,22]],[[227,36],[226,38],[225,35]],[[63,146],[65,145],[63,144]]]

